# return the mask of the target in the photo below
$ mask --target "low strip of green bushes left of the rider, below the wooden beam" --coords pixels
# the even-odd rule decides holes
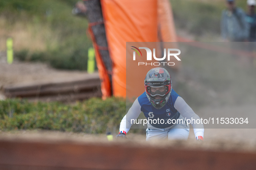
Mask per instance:
[[[30,103],[20,99],[0,101],[0,130],[48,129],[69,132],[116,132],[126,113],[123,98],[91,98],[66,105]]]

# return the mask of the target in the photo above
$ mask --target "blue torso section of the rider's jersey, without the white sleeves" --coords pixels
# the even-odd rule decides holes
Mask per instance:
[[[141,94],[138,98],[139,105],[141,106],[140,110],[144,113],[147,119],[151,119],[151,122],[156,122],[154,120],[164,120],[162,123],[150,123],[152,126],[156,128],[167,128],[172,126],[170,120],[177,120],[180,116],[178,110],[175,109],[174,104],[176,99],[178,98],[178,94],[172,90],[170,98],[164,107],[161,109],[156,109],[149,102],[149,99],[146,96],[146,92]],[[169,121],[169,123],[168,123]]]

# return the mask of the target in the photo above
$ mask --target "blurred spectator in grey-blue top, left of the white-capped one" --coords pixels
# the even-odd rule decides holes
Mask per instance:
[[[242,42],[249,37],[249,25],[243,9],[234,0],[226,0],[227,9],[222,12],[221,35],[225,41]]]

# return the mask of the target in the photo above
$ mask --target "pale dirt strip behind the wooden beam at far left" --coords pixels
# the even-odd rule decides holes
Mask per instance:
[[[29,63],[14,60],[6,62],[6,52],[0,52],[0,99],[4,99],[3,87],[6,85],[38,84],[41,82],[61,82],[84,79],[85,71],[66,71],[53,69],[46,63]]]

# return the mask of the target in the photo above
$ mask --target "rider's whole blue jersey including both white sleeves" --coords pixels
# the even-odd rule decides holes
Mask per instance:
[[[139,114],[143,112],[147,119],[149,120],[162,120],[164,122],[161,123],[150,123],[151,126],[155,127],[156,129],[170,129],[172,128],[172,123],[167,123],[166,121],[169,120],[177,120],[180,115],[183,116],[185,119],[200,119],[197,114],[188,106],[188,104],[181,98],[173,89],[171,92],[171,96],[165,104],[164,107],[161,109],[156,109],[152,106],[149,102],[146,92],[141,94],[136,100],[133,102],[132,107],[130,107],[129,111],[123,117],[120,123],[120,132],[128,132],[130,127],[134,123],[132,120],[136,120]],[[178,121],[177,121],[178,122]],[[204,136],[204,126],[203,124],[196,124],[191,123],[194,128],[195,136]],[[149,124],[148,124],[149,126]]]

